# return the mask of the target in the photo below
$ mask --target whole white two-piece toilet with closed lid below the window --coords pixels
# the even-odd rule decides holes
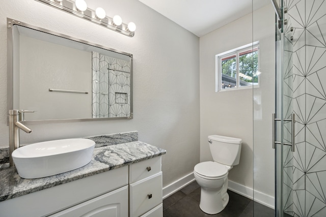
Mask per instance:
[[[239,164],[242,140],[212,135],[208,142],[213,161],[197,164],[194,176],[201,187],[199,207],[208,214],[216,214],[229,202],[228,173]]]

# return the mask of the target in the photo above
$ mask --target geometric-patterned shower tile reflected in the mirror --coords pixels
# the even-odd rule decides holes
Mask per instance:
[[[93,117],[130,116],[130,63],[92,53]]]

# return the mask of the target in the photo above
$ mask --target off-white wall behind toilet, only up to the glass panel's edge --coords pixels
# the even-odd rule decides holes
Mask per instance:
[[[252,89],[215,92],[215,55],[252,42],[247,15],[200,38],[200,161],[212,160],[207,136],[242,139],[240,163],[229,179],[253,185]]]

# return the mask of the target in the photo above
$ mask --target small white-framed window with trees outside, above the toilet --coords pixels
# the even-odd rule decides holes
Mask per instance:
[[[259,87],[259,44],[216,55],[216,91]]]

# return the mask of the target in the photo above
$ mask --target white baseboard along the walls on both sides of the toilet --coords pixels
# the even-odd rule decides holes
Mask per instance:
[[[182,178],[179,178],[178,180],[172,182],[171,184],[167,185],[166,187],[163,188],[163,199],[169,197],[170,195],[176,193],[177,191],[179,191],[180,189],[182,189],[183,187],[185,187],[187,184],[193,182],[195,180],[194,177],[194,173],[191,172],[185,176],[183,176]],[[262,192],[258,192],[258,191],[253,191],[252,188],[246,187],[242,184],[236,183],[234,181],[230,181],[229,180],[229,188],[230,191],[235,192],[239,195],[242,195],[244,197],[253,199],[258,202],[261,203],[265,206],[268,206],[269,208],[274,209],[275,206],[275,201],[274,201],[274,197],[270,196],[270,195],[266,195]],[[253,197],[253,193],[255,195],[255,197]]]

